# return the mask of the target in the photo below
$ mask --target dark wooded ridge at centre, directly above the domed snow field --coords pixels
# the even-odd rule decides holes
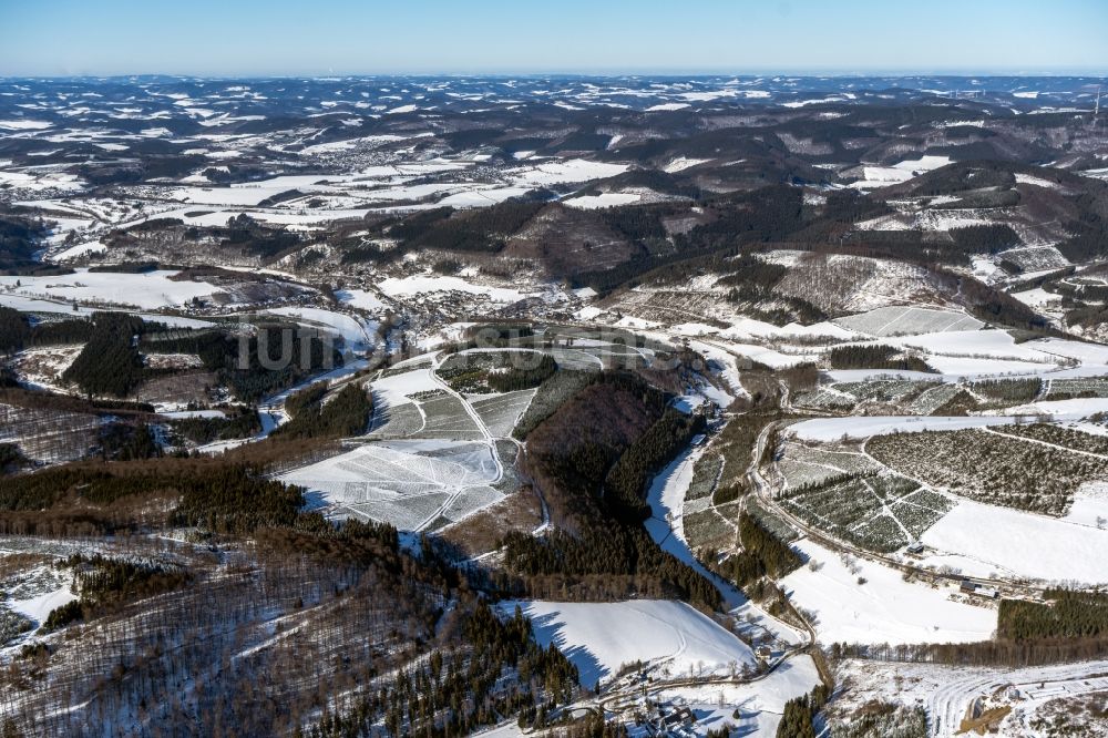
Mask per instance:
[[[702,422],[666,402],[636,375],[598,372],[531,431],[525,473],[542,489],[555,527],[541,537],[504,537],[503,591],[570,598],[649,593],[719,604],[716,587],[643,527],[650,475]]]

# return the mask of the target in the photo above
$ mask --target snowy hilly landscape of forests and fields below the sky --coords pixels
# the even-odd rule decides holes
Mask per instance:
[[[3,735],[1098,735],[1099,83],[0,79]]]

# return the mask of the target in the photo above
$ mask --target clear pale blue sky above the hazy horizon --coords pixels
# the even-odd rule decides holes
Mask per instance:
[[[0,0],[0,75],[1108,72],[1106,0]]]

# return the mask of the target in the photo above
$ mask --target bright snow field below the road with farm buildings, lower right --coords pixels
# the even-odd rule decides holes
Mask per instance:
[[[844,561],[812,541],[794,547],[815,565],[792,572],[781,586],[814,613],[822,643],[967,643],[987,640],[996,629],[996,611],[953,602],[954,590],[907,583],[896,570]]]

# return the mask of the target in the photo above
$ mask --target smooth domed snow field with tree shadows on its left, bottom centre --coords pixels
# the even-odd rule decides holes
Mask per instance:
[[[612,603],[520,602],[535,639],[551,643],[595,684],[635,660],[664,665],[673,676],[730,674],[753,663],[750,648],[693,607],[664,599]],[[512,612],[515,603],[501,607]]]

